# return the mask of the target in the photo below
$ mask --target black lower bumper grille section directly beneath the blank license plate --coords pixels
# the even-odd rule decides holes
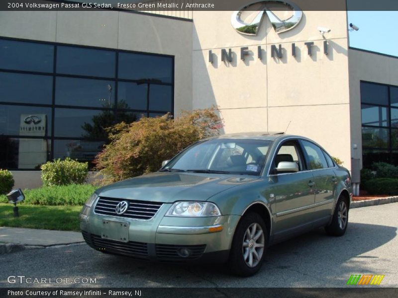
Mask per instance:
[[[143,242],[119,242],[109,239],[102,239],[99,235],[91,234],[91,242],[96,248],[103,249],[105,252],[114,252],[128,256],[147,257],[148,244]]]

